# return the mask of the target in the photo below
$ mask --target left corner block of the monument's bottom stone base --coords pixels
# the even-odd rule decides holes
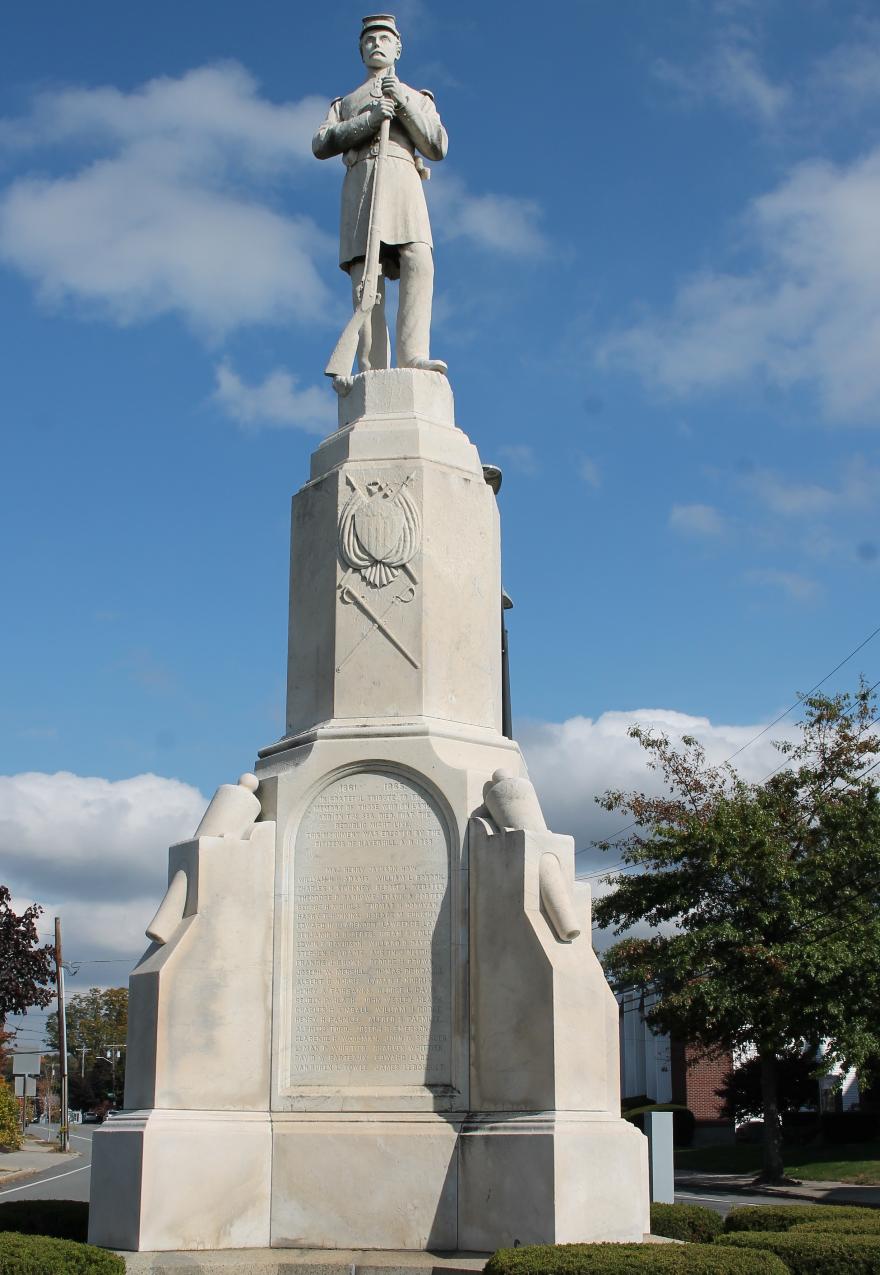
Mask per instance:
[[[269,1246],[272,1126],[260,1112],[126,1112],[96,1132],[92,1244]]]

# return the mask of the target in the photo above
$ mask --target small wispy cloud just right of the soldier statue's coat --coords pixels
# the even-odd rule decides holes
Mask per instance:
[[[541,207],[517,195],[474,195],[454,173],[436,175],[429,195],[431,217],[443,238],[471,240],[502,255],[545,256],[548,244],[539,227]],[[435,217],[436,213],[436,217]]]

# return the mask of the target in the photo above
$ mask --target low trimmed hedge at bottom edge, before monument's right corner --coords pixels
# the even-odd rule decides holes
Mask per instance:
[[[770,1252],[715,1244],[523,1244],[499,1248],[483,1275],[788,1275]]]

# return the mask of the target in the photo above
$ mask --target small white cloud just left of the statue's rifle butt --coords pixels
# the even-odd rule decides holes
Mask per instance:
[[[246,427],[269,426],[326,433],[337,425],[337,400],[329,388],[297,389],[297,380],[275,368],[259,385],[246,385],[228,362],[214,370],[214,402]]]

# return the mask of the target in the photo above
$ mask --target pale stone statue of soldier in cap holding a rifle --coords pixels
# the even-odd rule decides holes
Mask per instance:
[[[390,366],[385,280],[399,278],[398,367],[445,372],[446,365],[430,357],[434,249],[422,190],[427,177],[422,156],[443,159],[448,139],[427,89],[409,88],[397,78],[394,64],[400,50],[393,14],[363,18],[361,57],[367,69],[366,79],[353,93],[330,103],[311,147],[319,159],[341,154],[346,164],[339,265],[351,275],[356,307],[361,300],[371,209],[374,217],[380,217],[380,278],[376,303],[360,330],[358,368]],[[372,189],[384,120],[389,121],[389,129],[378,187],[380,209],[376,209]]]

